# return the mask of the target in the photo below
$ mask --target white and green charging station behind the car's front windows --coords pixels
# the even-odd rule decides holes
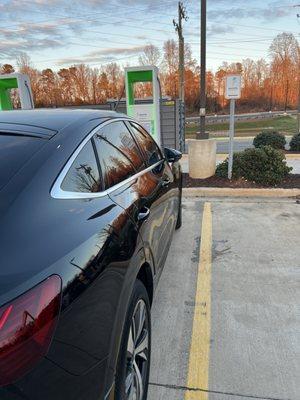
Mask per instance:
[[[150,82],[152,84],[153,101],[150,104],[137,104],[134,97],[134,85],[141,82]],[[127,115],[139,121],[155,141],[161,145],[158,68],[152,65],[125,68],[125,87]]]

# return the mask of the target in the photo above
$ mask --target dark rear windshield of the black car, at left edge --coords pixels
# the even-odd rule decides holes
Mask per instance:
[[[30,136],[0,134],[0,189],[42,146],[43,139]]]

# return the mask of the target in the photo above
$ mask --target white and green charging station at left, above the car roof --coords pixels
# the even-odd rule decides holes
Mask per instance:
[[[0,111],[13,109],[11,89],[18,89],[22,109],[34,108],[29,77],[25,74],[13,73],[0,75]]]

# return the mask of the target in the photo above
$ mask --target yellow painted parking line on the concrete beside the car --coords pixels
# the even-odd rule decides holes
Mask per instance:
[[[191,389],[208,390],[211,322],[211,247],[211,204],[205,203],[202,217],[200,260],[187,379],[187,387]],[[185,400],[207,399],[208,393],[206,392],[187,390],[185,393]]]

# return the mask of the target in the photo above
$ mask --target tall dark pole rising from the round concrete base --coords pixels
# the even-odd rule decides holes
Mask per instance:
[[[206,117],[206,5],[207,0],[201,0],[201,77],[200,77],[200,132],[197,139],[208,139],[205,131]]]

